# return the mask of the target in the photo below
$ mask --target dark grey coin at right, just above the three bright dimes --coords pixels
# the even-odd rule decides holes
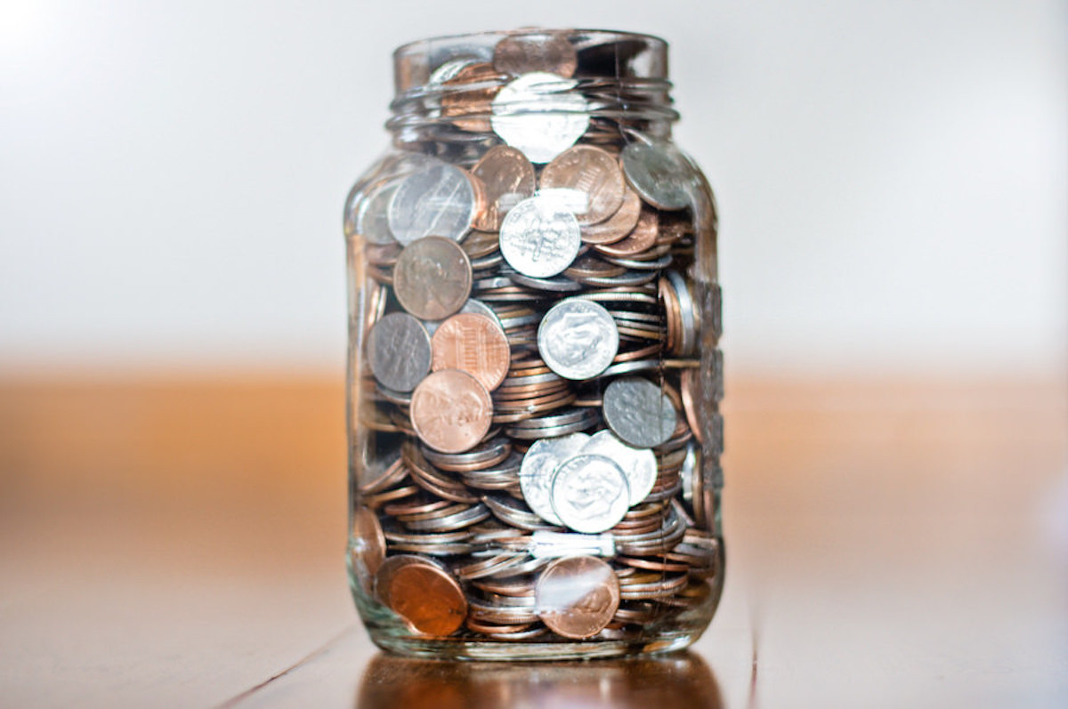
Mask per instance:
[[[616,379],[604,389],[602,409],[609,428],[634,447],[655,447],[675,431],[675,406],[648,379]]]

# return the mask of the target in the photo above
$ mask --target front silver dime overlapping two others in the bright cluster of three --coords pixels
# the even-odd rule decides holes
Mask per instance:
[[[561,521],[583,534],[611,530],[630,508],[627,476],[611,458],[599,455],[562,462],[552,476],[549,499]]]

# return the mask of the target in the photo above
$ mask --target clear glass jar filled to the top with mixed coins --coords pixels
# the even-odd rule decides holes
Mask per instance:
[[[690,645],[723,588],[716,208],[666,44],[600,30],[394,53],[345,205],[349,578],[404,655]]]

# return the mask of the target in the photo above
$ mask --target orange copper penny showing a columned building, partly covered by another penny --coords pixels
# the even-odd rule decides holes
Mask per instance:
[[[487,391],[501,385],[508,374],[508,338],[493,320],[478,313],[458,313],[438,326],[430,338],[433,368],[460,369]]]

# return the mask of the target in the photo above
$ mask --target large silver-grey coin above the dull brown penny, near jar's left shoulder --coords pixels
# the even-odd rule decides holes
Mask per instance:
[[[405,246],[430,235],[459,241],[476,211],[467,173],[449,164],[434,166],[408,175],[397,187],[390,200],[390,231]]]

